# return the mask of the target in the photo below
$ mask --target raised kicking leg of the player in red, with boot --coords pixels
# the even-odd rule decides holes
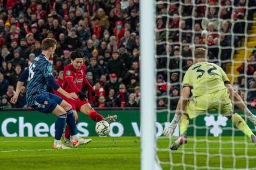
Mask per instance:
[[[86,115],[88,115],[93,121],[95,122],[99,122],[101,120],[105,120],[108,123],[112,123],[114,121],[116,121],[117,116],[113,115],[113,116],[108,116],[108,117],[103,117],[101,114],[97,113],[92,106],[90,105],[90,103],[88,101],[80,101],[78,103],[78,108],[80,108],[80,111]]]

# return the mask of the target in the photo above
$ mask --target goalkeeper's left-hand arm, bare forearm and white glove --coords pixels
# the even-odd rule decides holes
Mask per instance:
[[[190,86],[183,87],[182,92],[181,92],[181,97],[177,104],[174,118],[172,119],[172,122],[170,123],[169,127],[165,127],[165,129],[163,130],[164,136],[172,136],[173,135],[174,130],[180,120],[181,114],[185,113],[185,108],[186,108],[187,102],[189,100],[190,89],[191,89]]]

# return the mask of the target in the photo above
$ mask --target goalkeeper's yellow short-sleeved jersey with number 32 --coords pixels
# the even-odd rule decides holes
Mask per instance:
[[[192,65],[183,78],[183,87],[191,86],[193,96],[211,94],[226,88],[230,82],[221,67],[210,62],[198,62]]]

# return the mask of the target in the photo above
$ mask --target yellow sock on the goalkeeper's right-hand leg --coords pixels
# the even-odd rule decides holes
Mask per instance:
[[[236,127],[241,130],[246,136],[249,138],[253,135],[253,132],[250,130],[244,119],[237,113],[232,115],[232,122],[236,125]]]

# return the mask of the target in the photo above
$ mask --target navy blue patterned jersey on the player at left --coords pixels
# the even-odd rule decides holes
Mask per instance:
[[[44,54],[40,54],[29,65],[29,82],[26,100],[29,106],[35,105],[35,99],[47,91],[47,77],[52,76],[52,63]]]

